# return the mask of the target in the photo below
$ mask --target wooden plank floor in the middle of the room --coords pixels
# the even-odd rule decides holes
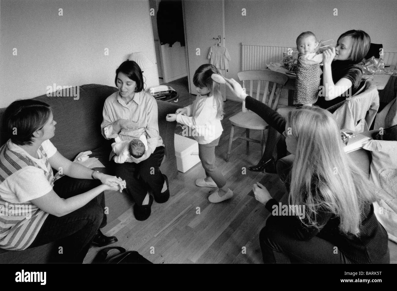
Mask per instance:
[[[180,94],[181,106],[191,104],[195,95],[187,93],[187,79],[172,82]],[[185,90],[185,91],[183,91]],[[144,222],[135,220],[133,201],[125,193],[106,193],[109,207],[108,225],[102,229],[106,235],[116,235],[118,243],[127,250],[135,250],[153,263],[262,263],[259,231],[265,225],[269,212],[252,195],[252,184],[264,179],[265,186],[276,199],[285,199],[285,188],[275,174],[254,173],[248,167],[260,159],[260,145],[252,143],[249,154],[245,141],[233,142],[231,157],[225,162],[230,123],[228,119],[241,110],[241,103],[226,101],[224,132],[216,147],[216,165],[234,192],[230,200],[212,204],[207,197],[212,188],[197,187],[198,177],[204,169],[197,164],[186,173],[169,181],[170,199],[164,204],[152,205],[152,214]],[[180,127],[179,127],[180,129]],[[178,128],[177,128],[178,131]],[[235,135],[243,135],[236,129]],[[259,133],[251,133],[255,138]],[[250,193],[251,192],[251,193]],[[117,209],[113,211],[113,209]],[[120,215],[120,213],[122,213]],[[391,257],[397,262],[397,245],[389,242]],[[98,247],[92,247],[85,263],[90,263]]]

